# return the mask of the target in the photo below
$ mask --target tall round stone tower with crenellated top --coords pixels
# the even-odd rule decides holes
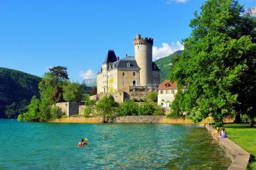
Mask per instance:
[[[142,38],[140,34],[134,39],[135,60],[140,67],[140,85],[152,84],[152,38]]]

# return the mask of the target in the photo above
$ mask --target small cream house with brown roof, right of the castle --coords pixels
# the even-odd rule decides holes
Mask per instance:
[[[170,107],[175,94],[178,92],[177,83],[164,80],[158,87],[157,104],[162,107]]]

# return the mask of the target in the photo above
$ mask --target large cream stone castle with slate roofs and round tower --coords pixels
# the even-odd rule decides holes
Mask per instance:
[[[160,69],[152,62],[152,38],[134,39],[135,56],[120,59],[114,50],[107,52],[97,73],[97,94],[131,91],[136,87],[154,87],[160,84]],[[146,88],[144,88],[146,89]]]

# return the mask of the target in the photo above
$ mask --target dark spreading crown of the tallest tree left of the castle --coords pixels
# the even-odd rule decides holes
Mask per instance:
[[[53,66],[52,68],[49,68],[49,70],[52,77],[56,78],[58,83],[69,79],[66,66]]]

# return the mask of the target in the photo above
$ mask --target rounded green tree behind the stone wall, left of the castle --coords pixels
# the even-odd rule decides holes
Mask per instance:
[[[63,99],[65,101],[81,101],[82,100],[82,89],[79,83],[67,83],[63,86]]]

